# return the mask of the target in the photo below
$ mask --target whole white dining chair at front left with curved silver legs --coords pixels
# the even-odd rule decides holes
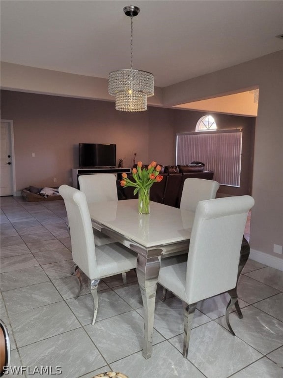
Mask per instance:
[[[85,193],[68,185],[61,185],[59,193],[66,206],[74,271],[80,285],[76,298],[82,287],[81,269],[90,280],[90,292],[94,301],[93,325],[98,309],[97,287],[100,280],[135,269],[137,254],[118,243],[95,246]]]

